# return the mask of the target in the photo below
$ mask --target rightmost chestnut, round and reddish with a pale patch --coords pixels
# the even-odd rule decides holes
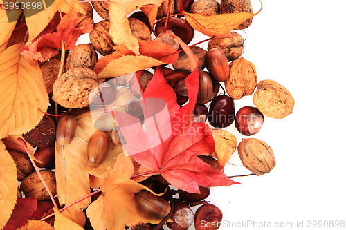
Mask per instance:
[[[235,128],[242,135],[251,136],[260,132],[263,122],[263,113],[253,106],[244,106],[235,115]]]

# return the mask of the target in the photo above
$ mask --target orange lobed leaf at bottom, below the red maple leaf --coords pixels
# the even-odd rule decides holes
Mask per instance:
[[[104,174],[102,195],[86,209],[93,229],[122,230],[138,222],[157,224],[161,221],[137,204],[134,193],[147,187],[131,180],[133,173],[131,158],[118,155],[113,169],[109,168]]]

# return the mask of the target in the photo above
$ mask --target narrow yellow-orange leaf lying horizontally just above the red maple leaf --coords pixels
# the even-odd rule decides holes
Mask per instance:
[[[165,62],[158,61],[152,57],[126,55],[110,61],[109,64],[101,70],[98,77],[118,77],[162,64],[165,64]]]

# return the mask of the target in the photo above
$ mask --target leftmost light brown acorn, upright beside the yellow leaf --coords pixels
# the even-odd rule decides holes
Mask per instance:
[[[71,114],[64,115],[57,122],[56,140],[58,144],[70,144],[75,137],[77,129],[77,119]]]

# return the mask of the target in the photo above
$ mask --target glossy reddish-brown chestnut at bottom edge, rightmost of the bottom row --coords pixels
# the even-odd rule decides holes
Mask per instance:
[[[194,215],[196,230],[217,230],[221,227],[222,212],[214,204],[203,204]]]

